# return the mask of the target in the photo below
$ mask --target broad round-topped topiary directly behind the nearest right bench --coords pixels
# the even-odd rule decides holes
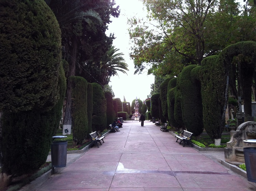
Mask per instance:
[[[196,67],[197,65],[188,65],[179,74],[182,119],[187,131],[194,133],[194,136],[203,132],[201,84],[191,77],[191,71]]]

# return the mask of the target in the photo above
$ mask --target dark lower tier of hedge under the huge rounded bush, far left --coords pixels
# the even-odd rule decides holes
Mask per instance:
[[[33,173],[45,163],[52,136],[59,127],[65,98],[66,78],[61,68],[62,66],[58,80],[59,100],[51,110],[40,112],[33,109],[18,113],[2,113],[0,137],[2,172],[9,175]]]

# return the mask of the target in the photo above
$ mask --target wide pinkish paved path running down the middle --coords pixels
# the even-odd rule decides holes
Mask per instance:
[[[256,184],[145,121],[125,121],[36,191],[251,191]],[[209,154],[209,155],[207,155]],[[216,155],[219,155],[216,153]]]

